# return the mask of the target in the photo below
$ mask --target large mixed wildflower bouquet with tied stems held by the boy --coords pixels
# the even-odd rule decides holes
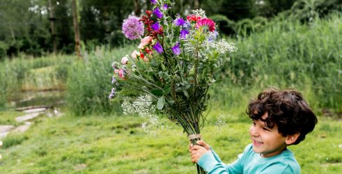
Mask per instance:
[[[192,10],[186,19],[180,15],[172,18],[171,1],[150,2],[154,7],[146,10],[146,15],[123,21],[125,36],[141,42],[121,63],[112,64],[114,88],[109,98],[139,98],[155,104],[157,111],[180,125],[196,144],[201,139],[203,111],[208,108],[215,70],[236,48],[224,39],[217,40],[215,22],[205,11]],[[205,173],[199,166],[197,172]]]

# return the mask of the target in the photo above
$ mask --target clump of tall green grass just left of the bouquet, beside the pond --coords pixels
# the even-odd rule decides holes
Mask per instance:
[[[113,61],[120,61],[133,50],[133,46],[118,49],[101,47],[94,52],[84,52],[84,61],[75,62],[68,76],[67,103],[70,111],[75,115],[121,111],[118,103],[108,99],[112,88],[108,74],[113,70]]]

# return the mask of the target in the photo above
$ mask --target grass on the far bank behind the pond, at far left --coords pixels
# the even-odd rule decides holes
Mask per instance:
[[[26,82],[37,81],[36,74],[39,74],[39,78],[51,77],[60,80],[61,83],[65,82],[68,77],[68,67],[73,59],[76,59],[75,56],[57,55],[40,58],[21,56],[1,61],[0,109],[9,107],[9,103],[19,95],[20,91],[25,90]],[[44,70],[41,70],[42,68],[53,70],[53,72],[45,74]]]

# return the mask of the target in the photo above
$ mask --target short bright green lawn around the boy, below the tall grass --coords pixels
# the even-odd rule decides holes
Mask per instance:
[[[212,113],[208,120],[215,120]],[[1,112],[0,118],[7,114]],[[226,125],[216,127],[209,123],[203,128],[202,136],[229,163],[250,143],[250,122],[224,114]],[[143,118],[135,116],[39,117],[28,132],[9,134],[3,140],[0,171],[196,173],[190,162],[188,140],[180,127],[170,122],[170,128],[153,136],[143,132],[141,122]],[[318,126],[305,141],[290,146],[302,166],[302,173],[341,173],[341,131],[341,120],[320,117]]]

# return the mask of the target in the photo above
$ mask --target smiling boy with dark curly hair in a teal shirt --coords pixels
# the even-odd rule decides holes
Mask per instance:
[[[313,111],[295,90],[264,90],[249,103],[247,114],[251,144],[232,164],[224,164],[204,141],[190,145],[192,162],[208,173],[300,173],[300,165],[287,149],[305,139],[317,123]]]

